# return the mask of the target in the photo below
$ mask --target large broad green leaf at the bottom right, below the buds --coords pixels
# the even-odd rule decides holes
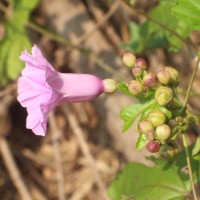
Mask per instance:
[[[181,169],[186,166],[185,152],[170,161],[157,160],[156,166],[147,167],[130,163],[116,177],[108,193],[112,200],[186,200],[191,192],[189,174]],[[200,161],[191,160],[195,183],[199,183]]]

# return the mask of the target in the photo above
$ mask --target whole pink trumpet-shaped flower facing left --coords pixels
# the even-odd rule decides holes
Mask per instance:
[[[37,46],[32,48],[32,55],[26,50],[22,52],[20,59],[26,66],[18,79],[17,100],[28,112],[26,128],[32,129],[36,135],[45,135],[48,114],[56,106],[91,100],[116,89],[109,91],[106,85],[109,81],[102,81],[94,75],[55,71]]]

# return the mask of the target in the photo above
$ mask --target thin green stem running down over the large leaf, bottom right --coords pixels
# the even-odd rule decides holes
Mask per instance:
[[[193,175],[192,175],[192,167],[191,167],[190,156],[189,156],[189,151],[188,151],[188,144],[187,144],[185,133],[182,133],[182,139],[183,139],[183,146],[184,146],[185,153],[186,153],[186,161],[187,161],[187,166],[188,166],[189,175],[190,175],[192,192],[193,192],[194,200],[197,200],[197,194],[196,194],[196,190],[195,190],[195,186],[194,186],[194,179],[193,179]]]

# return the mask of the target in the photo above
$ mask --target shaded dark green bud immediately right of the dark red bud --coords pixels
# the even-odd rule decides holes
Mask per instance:
[[[159,155],[164,158],[173,158],[179,152],[179,148],[174,141],[169,141],[162,145]]]

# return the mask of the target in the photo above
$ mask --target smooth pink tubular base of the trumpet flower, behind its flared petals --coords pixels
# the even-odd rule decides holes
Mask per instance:
[[[47,83],[52,89],[63,94],[63,102],[80,102],[91,100],[104,91],[103,81],[90,74],[46,75]]]

